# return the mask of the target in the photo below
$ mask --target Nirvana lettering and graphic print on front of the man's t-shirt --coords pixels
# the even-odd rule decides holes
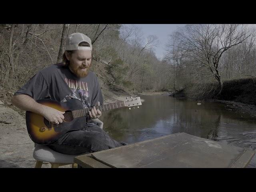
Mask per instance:
[[[65,98],[62,99],[61,102],[66,102],[67,99],[71,99],[71,98],[78,99],[82,102],[83,108],[89,108],[90,94],[89,94],[87,82],[77,81],[77,80],[68,79],[68,78],[65,78],[65,82],[70,88],[70,90],[72,90],[72,93],[65,96]]]

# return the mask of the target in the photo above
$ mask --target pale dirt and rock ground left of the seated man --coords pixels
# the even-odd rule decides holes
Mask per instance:
[[[26,130],[26,120],[0,104],[0,168],[33,168],[34,143]],[[49,164],[44,164],[44,167]]]

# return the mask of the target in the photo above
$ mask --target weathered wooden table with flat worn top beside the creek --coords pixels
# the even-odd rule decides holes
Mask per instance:
[[[254,154],[182,132],[76,156],[74,162],[81,168],[244,168]]]

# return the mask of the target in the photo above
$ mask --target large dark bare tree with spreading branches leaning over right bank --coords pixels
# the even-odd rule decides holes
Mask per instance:
[[[199,24],[186,25],[181,40],[190,64],[201,72],[202,76],[213,76],[223,88],[219,71],[220,58],[224,52],[246,40],[247,26],[240,24]]]

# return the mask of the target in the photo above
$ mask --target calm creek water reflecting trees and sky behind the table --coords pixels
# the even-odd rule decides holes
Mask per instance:
[[[172,98],[140,96],[140,108],[120,108],[102,114],[104,130],[116,140],[135,143],[177,132],[256,149],[256,121],[228,111],[224,104]],[[242,116],[241,116],[242,115]],[[248,167],[256,167],[256,157]]]

